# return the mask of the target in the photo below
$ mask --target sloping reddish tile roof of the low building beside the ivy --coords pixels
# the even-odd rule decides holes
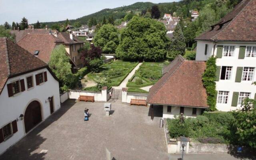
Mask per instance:
[[[205,62],[177,57],[167,68],[168,72],[150,88],[147,103],[208,108],[202,84]]]

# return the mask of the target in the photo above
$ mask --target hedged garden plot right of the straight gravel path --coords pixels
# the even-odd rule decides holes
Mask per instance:
[[[168,64],[169,62],[143,62],[126,86],[141,88],[155,84],[162,77],[162,68]]]

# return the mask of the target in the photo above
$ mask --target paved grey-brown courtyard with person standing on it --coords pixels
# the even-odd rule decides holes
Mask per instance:
[[[116,160],[169,160],[160,118],[150,120],[149,108],[112,102],[106,117],[103,104],[67,100],[0,160],[105,160],[105,148]]]

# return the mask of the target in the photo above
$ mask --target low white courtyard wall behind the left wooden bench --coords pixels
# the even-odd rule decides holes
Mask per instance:
[[[78,99],[79,96],[94,96],[95,101],[107,102],[110,98],[110,95],[107,90],[102,90],[101,92],[91,92],[85,90],[69,90],[68,98],[69,99]]]

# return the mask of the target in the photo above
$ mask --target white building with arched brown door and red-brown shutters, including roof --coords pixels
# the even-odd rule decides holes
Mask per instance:
[[[0,154],[59,108],[59,82],[48,65],[0,38]]]

